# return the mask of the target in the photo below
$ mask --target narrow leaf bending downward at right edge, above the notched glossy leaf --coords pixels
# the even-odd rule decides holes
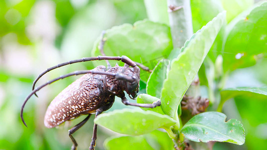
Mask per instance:
[[[263,87],[236,87],[236,88],[223,89],[220,92],[221,100],[220,100],[217,111],[221,111],[222,105],[226,100],[228,100],[232,97],[240,96],[240,95],[250,95],[251,93],[266,95],[266,98],[267,98],[267,86],[263,86]]]

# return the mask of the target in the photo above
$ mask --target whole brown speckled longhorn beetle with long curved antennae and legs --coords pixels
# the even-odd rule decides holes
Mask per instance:
[[[97,117],[103,111],[108,110],[112,106],[115,96],[120,97],[122,102],[126,105],[151,108],[160,105],[160,100],[153,103],[131,103],[128,99],[126,99],[124,90],[127,92],[127,94],[129,94],[129,97],[131,99],[134,99],[137,96],[139,89],[140,69],[137,66],[136,62],[132,61],[127,56],[106,56],[103,51],[103,45],[105,42],[103,38],[104,33],[105,32],[103,32],[102,34],[102,40],[99,45],[99,49],[103,56],[85,57],[81,59],[71,60],[48,68],[35,79],[33,83],[33,91],[27,96],[22,105],[21,119],[26,125],[26,122],[23,118],[23,110],[26,102],[33,94],[36,94],[36,92],[44,86],[51,84],[52,82],[55,82],[59,79],[63,79],[72,75],[85,74],[71,83],[64,90],[62,90],[52,100],[45,114],[44,123],[48,128],[55,127],[67,120],[70,120],[71,118],[76,118],[81,114],[88,115],[84,120],[82,120],[80,123],[69,130],[69,136],[73,142],[73,145],[71,147],[72,150],[76,149],[78,145],[72,134],[85,124],[92,113],[96,113],[95,117]],[[97,66],[92,70],[78,70],[49,80],[47,83],[35,88],[37,80],[41,78],[45,73],[55,68],[71,63],[92,60],[106,60],[108,70],[106,70],[106,67],[104,65]],[[121,60],[125,64],[124,66],[119,66],[118,64],[116,64],[114,67],[111,67],[108,60]],[[149,70],[142,64],[138,63],[138,65],[145,70]],[[96,138],[97,124],[95,123],[93,129],[93,137],[89,147],[90,150],[94,149]]]

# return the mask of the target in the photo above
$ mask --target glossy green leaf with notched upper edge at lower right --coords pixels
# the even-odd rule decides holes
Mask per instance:
[[[181,129],[184,137],[192,141],[223,141],[243,144],[244,128],[240,121],[230,119],[221,112],[203,112],[192,117]]]

